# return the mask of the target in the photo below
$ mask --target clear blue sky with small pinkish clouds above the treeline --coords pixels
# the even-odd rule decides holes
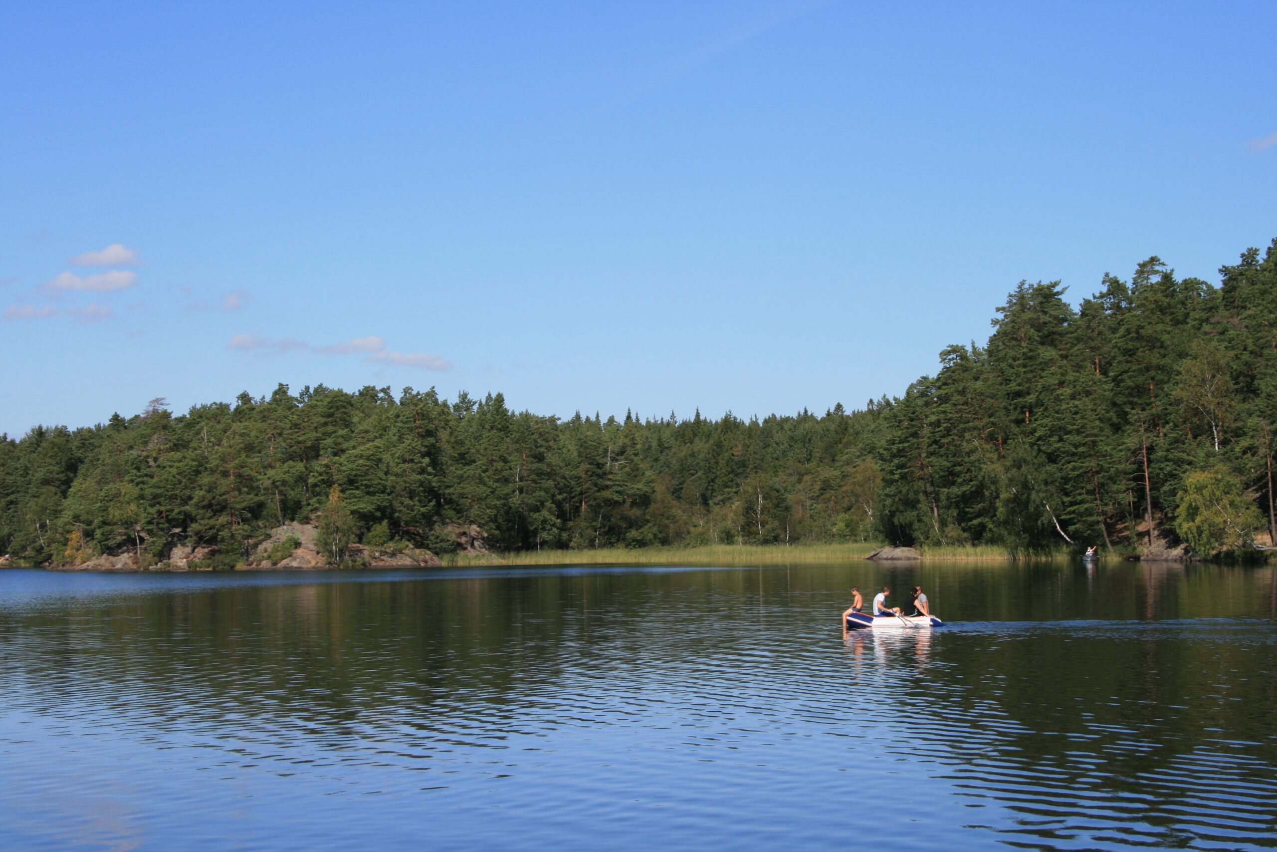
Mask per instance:
[[[0,430],[862,406],[1277,236],[1272,3],[0,3]]]

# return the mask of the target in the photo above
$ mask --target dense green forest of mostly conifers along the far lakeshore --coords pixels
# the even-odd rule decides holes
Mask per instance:
[[[246,556],[285,521],[435,552],[882,540],[1015,552],[1272,542],[1277,240],[1218,286],[1158,258],[1074,309],[1016,286],[898,399],[743,420],[543,416],[323,386],[0,441],[0,551]]]

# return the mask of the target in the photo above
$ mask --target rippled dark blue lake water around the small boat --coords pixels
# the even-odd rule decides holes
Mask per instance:
[[[882,582],[949,623],[844,640]],[[0,571],[0,848],[1274,848],[1274,617],[1268,567]]]

